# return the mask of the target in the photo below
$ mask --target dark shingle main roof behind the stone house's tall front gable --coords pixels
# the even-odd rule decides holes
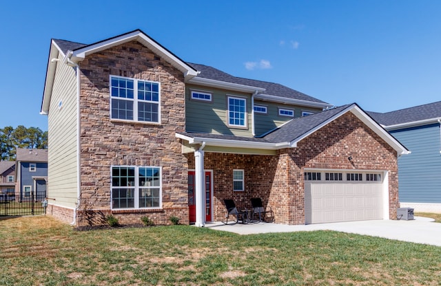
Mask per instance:
[[[77,50],[81,47],[87,46],[86,44],[74,43],[71,41],[65,41],[60,39],[53,39],[53,41],[60,47],[61,51],[64,54],[66,54],[68,50]],[[187,65],[198,70],[198,72],[201,72],[200,74],[198,74],[198,77],[200,78],[220,80],[226,83],[235,83],[238,85],[247,85],[251,87],[260,87],[266,89],[265,94],[271,96],[280,96],[283,98],[291,98],[295,100],[305,100],[309,102],[318,102],[318,103],[327,104],[327,102],[324,102],[312,96],[308,96],[307,94],[303,94],[300,91],[296,91],[295,89],[285,87],[285,85],[280,85],[278,83],[269,83],[262,80],[252,80],[248,78],[238,78],[236,76],[232,76],[231,74],[222,72],[214,67],[209,67],[208,65],[201,65],[197,63],[187,63]]]

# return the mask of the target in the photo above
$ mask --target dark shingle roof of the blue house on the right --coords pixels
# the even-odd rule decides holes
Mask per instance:
[[[441,101],[418,105],[396,111],[378,113],[367,112],[378,123],[384,126],[441,118]]]

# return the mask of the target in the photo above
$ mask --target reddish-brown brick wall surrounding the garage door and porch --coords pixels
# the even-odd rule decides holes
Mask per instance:
[[[353,164],[347,157],[353,157]],[[194,168],[193,154],[187,154]],[[305,168],[389,170],[389,218],[396,218],[398,203],[397,154],[355,115],[346,113],[309,135],[296,148],[278,155],[205,153],[205,169],[214,170],[214,221],[225,216],[223,199],[234,199],[239,208],[250,208],[260,197],[274,210],[277,223],[305,224]],[[234,192],[233,169],[244,169],[245,192]]]

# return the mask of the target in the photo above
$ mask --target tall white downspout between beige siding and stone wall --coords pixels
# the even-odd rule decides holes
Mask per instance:
[[[72,52],[68,52],[69,57]],[[76,69],[76,204],[74,208],[74,220],[71,225],[76,225],[76,212],[81,206],[81,116],[80,116],[80,67],[78,64],[70,61],[70,58],[66,60],[68,65],[75,67]]]

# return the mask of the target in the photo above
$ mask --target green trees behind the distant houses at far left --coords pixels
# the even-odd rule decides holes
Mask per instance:
[[[23,125],[14,129],[6,126],[0,129],[0,155],[2,160],[13,161],[16,148],[48,148],[48,131]]]

